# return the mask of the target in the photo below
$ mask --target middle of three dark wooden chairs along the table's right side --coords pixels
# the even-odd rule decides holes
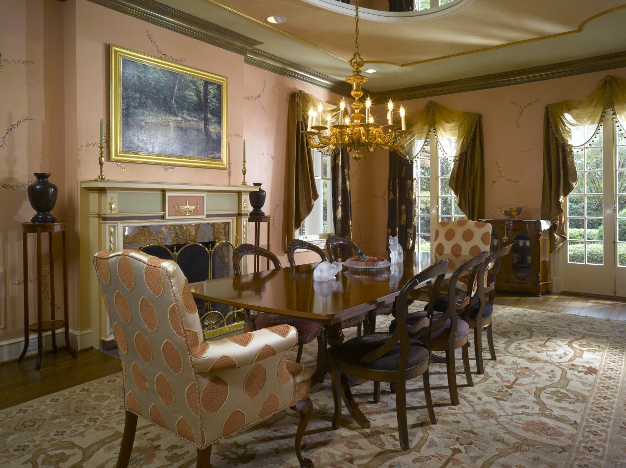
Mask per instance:
[[[469,305],[473,293],[481,293],[483,280],[478,278],[478,271],[480,270],[483,262],[485,262],[487,254],[488,252],[482,252],[480,255],[476,255],[476,257],[471,258],[471,260],[461,264],[461,266],[458,267],[454,273],[452,273],[448,282],[447,297],[449,307],[447,307],[446,310],[441,312],[434,311],[434,308],[432,308],[433,310],[431,311],[431,307],[428,307],[428,310],[411,312],[406,317],[406,322],[411,325],[419,322],[419,320],[423,317],[430,318],[431,337],[429,349],[431,352],[443,351],[445,353],[446,372],[448,374],[448,391],[453,405],[459,404],[459,395],[456,385],[456,364],[454,359],[455,350],[458,348],[461,348],[461,358],[463,360],[463,368],[467,384],[469,387],[474,386],[471,378],[471,369],[469,367],[469,325],[465,322],[465,320],[463,320],[463,318],[459,317],[459,314]],[[468,278],[468,284],[478,282],[478,287],[476,289],[468,288],[468,292],[459,296],[460,300],[456,300],[456,285],[461,277]],[[433,288],[433,290],[435,289]],[[389,331],[392,331],[395,326],[395,321],[392,321],[389,326]],[[419,338],[419,335],[412,336]]]

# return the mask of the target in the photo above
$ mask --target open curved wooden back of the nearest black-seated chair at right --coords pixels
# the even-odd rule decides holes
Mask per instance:
[[[408,313],[408,307],[413,300],[409,298],[409,294],[431,282],[434,282],[433,288],[431,288],[429,303],[434,303],[437,296],[437,291],[441,282],[446,276],[446,270],[448,269],[448,260],[440,260],[434,265],[426,268],[423,272],[418,273],[411,278],[404,287],[400,290],[398,298],[396,299],[396,307],[394,310],[394,316],[396,317],[396,328],[384,345],[376,350],[364,355],[361,362],[369,363],[376,359],[381,358],[387,352],[389,352],[396,343],[401,343],[402,351],[400,354],[400,360],[398,363],[398,371],[402,372],[404,369],[404,363],[409,356],[409,335],[419,333],[420,339],[423,340],[424,347],[428,348],[430,343],[430,317],[424,317],[419,320],[413,326],[409,326],[406,323],[406,314]],[[406,370],[406,369],[404,369]]]

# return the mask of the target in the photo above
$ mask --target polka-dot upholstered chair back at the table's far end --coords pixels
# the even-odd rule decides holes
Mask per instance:
[[[489,250],[491,225],[480,221],[443,221],[434,230],[434,253],[478,255]]]

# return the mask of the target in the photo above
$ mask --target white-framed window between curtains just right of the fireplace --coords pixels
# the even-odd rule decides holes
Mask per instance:
[[[324,245],[326,238],[334,233],[332,223],[331,153],[322,153],[312,148],[313,171],[319,198],[313,210],[302,221],[299,238]]]

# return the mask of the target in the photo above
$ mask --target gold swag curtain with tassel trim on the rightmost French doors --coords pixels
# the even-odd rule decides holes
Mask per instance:
[[[585,126],[599,126],[607,111],[626,128],[626,81],[617,76],[607,75],[598,81],[586,98],[566,99],[546,106],[541,218],[552,221],[550,252],[567,239],[563,203],[578,181],[573,147],[587,143]]]

